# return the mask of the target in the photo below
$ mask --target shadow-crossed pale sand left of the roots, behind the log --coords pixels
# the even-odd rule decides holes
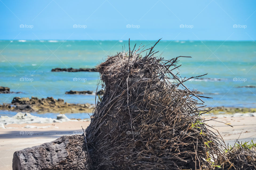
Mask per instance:
[[[82,134],[81,126],[86,128],[89,123],[90,122],[63,122],[6,125],[6,129],[0,129],[0,169],[12,169],[12,159],[15,151],[50,142],[63,135]],[[27,125],[50,127],[24,128]],[[21,133],[26,134],[22,135]]]

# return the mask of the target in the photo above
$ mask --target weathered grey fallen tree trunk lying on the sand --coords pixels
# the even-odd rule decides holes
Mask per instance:
[[[14,152],[13,170],[89,169],[88,162],[83,135],[62,136]]]

